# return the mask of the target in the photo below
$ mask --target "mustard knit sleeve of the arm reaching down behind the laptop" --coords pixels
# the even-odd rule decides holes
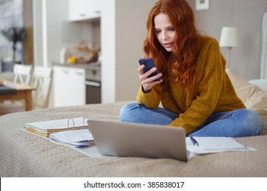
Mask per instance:
[[[179,114],[169,126],[180,126],[186,129],[186,134],[190,134],[214,112],[223,86],[224,67],[220,55],[220,48],[216,40],[210,40],[205,44],[199,53],[196,61],[196,76],[200,80],[196,84],[196,99],[194,99],[184,113]],[[203,71],[201,71],[203,70]]]

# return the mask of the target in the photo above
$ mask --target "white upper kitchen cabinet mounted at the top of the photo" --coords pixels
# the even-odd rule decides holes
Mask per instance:
[[[100,18],[101,0],[68,0],[70,21]]]

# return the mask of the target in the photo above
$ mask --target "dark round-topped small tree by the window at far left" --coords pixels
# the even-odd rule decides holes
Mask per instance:
[[[13,42],[12,44],[12,50],[13,50],[13,61],[16,61],[16,43],[17,42],[23,42],[25,39],[27,33],[26,30],[23,27],[10,27],[7,30],[2,30],[1,33],[3,36],[9,40],[10,42]]]

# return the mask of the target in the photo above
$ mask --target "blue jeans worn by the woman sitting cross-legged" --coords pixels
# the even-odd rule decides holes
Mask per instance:
[[[143,104],[132,103],[120,109],[120,121],[149,123],[166,126],[179,115],[164,108],[151,109]],[[262,132],[262,118],[250,109],[237,109],[213,113],[198,128],[187,136],[257,136]]]

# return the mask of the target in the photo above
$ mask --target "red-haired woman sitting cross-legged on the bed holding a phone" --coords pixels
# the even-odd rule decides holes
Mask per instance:
[[[183,127],[187,136],[240,137],[262,132],[261,117],[246,109],[233,89],[218,42],[196,31],[186,0],[155,4],[143,48],[156,68],[145,73],[144,65],[138,68],[138,103],[123,106],[120,121]],[[148,77],[155,70],[160,73]],[[162,80],[156,81],[159,77]]]

